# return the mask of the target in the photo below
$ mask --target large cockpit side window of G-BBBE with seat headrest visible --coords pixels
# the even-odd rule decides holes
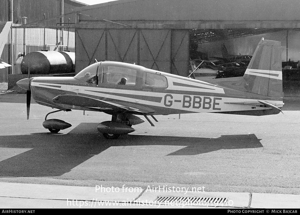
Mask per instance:
[[[103,66],[99,82],[103,84],[136,85],[137,70],[119,66]]]

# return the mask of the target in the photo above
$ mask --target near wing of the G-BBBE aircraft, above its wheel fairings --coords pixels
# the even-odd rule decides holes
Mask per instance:
[[[100,99],[94,99],[87,96],[79,96],[79,95],[60,95],[56,96],[52,99],[54,103],[64,104],[64,105],[74,105],[79,107],[90,107],[90,108],[97,108],[100,110],[113,110],[113,111],[121,111],[121,112],[137,112],[146,114],[146,113],[154,113],[155,110],[137,106],[137,107],[130,107],[126,103],[122,102],[108,102]],[[119,104],[118,104],[119,103]]]

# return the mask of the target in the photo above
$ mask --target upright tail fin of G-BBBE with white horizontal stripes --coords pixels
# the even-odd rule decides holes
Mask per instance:
[[[281,42],[260,40],[243,76],[247,92],[283,97]]]

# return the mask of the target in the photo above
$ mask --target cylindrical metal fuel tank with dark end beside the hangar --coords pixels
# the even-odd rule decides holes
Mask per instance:
[[[22,74],[63,74],[75,72],[75,53],[38,51],[30,52],[21,62]]]

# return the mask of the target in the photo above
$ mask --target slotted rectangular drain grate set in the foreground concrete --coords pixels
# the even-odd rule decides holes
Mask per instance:
[[[187,197],[187,196],[158,196],[155,202],[160,204],[187,204],[198,206],[228,206],[228,198],[226,197]]]

